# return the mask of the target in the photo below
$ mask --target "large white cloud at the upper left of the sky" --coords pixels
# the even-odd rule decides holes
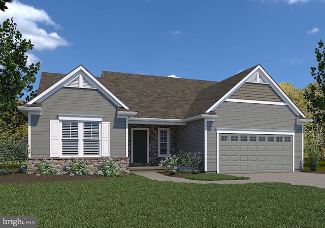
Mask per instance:
[[[6,6],[8,6],[8,9],[0,13],[0,22],[14,17],[14,22],[17,23],[17,30],[21,32],[23,38],[31,40],[31,43],[34,44],[34,49],[55,49],[58,46],[69,45],[68,41],[60,37],[56,32],[48,33],[41,29],[39,25],[42,23],[51,25],[54,29],[60,28],[60,25],[56,24],[45,10],[36,9],[16,0],[6,4]]]

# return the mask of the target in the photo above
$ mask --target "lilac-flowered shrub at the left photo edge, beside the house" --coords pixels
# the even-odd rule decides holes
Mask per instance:
[[[28,158],[28,139],[3,137],[0,141],[0,164],[22,164]]]

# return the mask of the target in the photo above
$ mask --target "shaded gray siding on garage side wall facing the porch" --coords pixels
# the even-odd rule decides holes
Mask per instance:
[[[176,152],[192,151],[202,153],[204,165],[204,120],[188,122],[176,127]]]

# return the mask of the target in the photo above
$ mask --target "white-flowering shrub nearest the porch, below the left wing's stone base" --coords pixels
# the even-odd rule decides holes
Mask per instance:
[[[124,167],[123,160],[108,158],[98,163],[96,174],[104,177],[118,177],[129,174],[129,171]]]

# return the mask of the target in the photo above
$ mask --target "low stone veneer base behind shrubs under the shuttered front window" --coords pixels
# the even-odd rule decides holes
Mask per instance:
[[[44,159],[47,159],[49,161],[54,161],[55,162],[55,166],[63,166],[64,163],[67,163],[68,161],[71,161],[73,163],[77,162],[76,161],[76,158],[28,158],[28,161],[27,161],[27,167],[32,167],[32,163],[36,160],[39,160],[39,161],[43,161]],[[87,162],[87,165],[91,166],[92,169],[91,171],[95,171],[97,166],[98,166],[98,163],[99,162],[102,162],[103,159],[107,159],[106,157],[103,157],[103,158],[77,158],[79,159],[79,161],[81,160],[85,160]],[[122,160],[122,164],[123,166],[125,167],[125,169],[128,169],[128,166],[129,166],[129,158],[115,158],[117,161],[120,161]],[[33,170],[31,168],[31,171],[36,173],[36,170]]]

